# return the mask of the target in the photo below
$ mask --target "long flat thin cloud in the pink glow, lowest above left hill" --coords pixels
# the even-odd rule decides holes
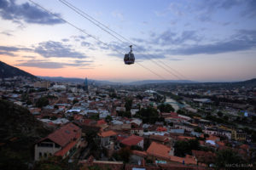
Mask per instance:
[[[60,69],[67,66],[74,67],[84,67],[89,66],[90,63],[61,63],[61,62],[53,62],[48,59],[38,59],[38,60],[27,60],[26,62],[17,64],[17,66],[27,66],[27,67],[36,67],[41,69]],[[90,65],[91,66],[91,65]]]

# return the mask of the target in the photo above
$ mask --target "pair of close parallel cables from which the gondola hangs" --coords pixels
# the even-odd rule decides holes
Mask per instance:
[[[108,26],[105,26],[104,24],[102,24],[100,21],[94,19],[93,17],[91,17],[89,14],[86,14],[84,11],[82,11],[81,9],[73,6],[72,3],[68,3],[66,0],[59,0],[60,3],[63,3],[64,5],[66,5],[68,8],[71,8],[74,12],[76,12],[77,14],[81,15],[82,17],[84,17],[86,20],[89,20],[91,23],[95,24],[96,26],[98,26],[99,28],[102,29],[102,31],[106,31],[109,35],[115,37],[116,39],[118,39],[120,42],[124,42],[123,40],[121,40],[119,37],[123,38],[125,41],[130,42],[133,46],[137,46],[139,47],[137,44],[131,42],[129,39],[121,36],[119,33],[117,33],[116,31],[113,31],[112,29],[110,29]],[[105,28],[103,28],[105,27]],[[110,31],[112,31],[113,33],[111,33]],[[117,36],[113,35],[116,34]],[[126,42],[125,42],[126,43]],[[148,53],[147,53],[148,54]],[[151,55],[153,57],[148,57],[148,55]],[[172,74],[172,76],[177,77],[178,79],[182,80],[181,77],[184,77],[181,73],[179,73],[178,71],[176,71],[175,69],[173,69],[172,67],[170,67],[169,65],[166,65],[166,63],[162,62],[159,59],[155,59],[156,61],[160,62],[162,65],[160,65],[159,63],[154,61],[154,55],[152,54],[148,54],[145,55],[147,58],[149,58],[155,65],[158,65],[160,68],[164,69],[165,71],[167,71],[168,73]],[[169,69],[171,69],[172,71],[169,71],[168,69],[166,69],[166,67],[164,67],[163,65],[165,65],[166,67],[168,67]],[[179,76],[178,76],[179,75]],[[184,77],[185,79],[187,79],[186,77]]]

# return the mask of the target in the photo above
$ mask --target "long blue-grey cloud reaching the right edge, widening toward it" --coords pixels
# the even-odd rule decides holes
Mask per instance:
[[[256,47],[256,31],[241,30],[229,40],[168,50],[171,54],[221,54]]]

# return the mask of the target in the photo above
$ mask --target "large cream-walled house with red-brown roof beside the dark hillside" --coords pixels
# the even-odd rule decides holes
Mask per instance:
[[[49,156],[73,156],[81,144],[82,130],[73,123],[67,123],[35,144],[35,161]]]

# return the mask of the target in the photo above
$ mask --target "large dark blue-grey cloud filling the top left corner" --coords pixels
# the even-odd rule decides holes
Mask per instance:
[[[60,14],[56,14],[60,15]],[[0,0],[0,17],[3,20],[12,20],[20,23],[20,20],[26,23],[40,25],[55,25],[63,23],[52,14],[48,14],[38,7],[29,3],[17,4],[15,0]]]

